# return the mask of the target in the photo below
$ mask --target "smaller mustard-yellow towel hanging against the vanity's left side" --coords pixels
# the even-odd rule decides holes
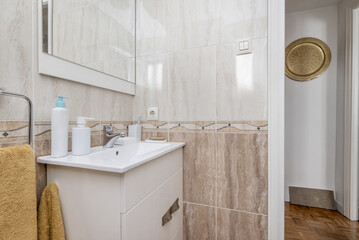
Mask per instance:
[[[59,189],[54,182],[47,185],[41,195],[37,224],[39,240],[65,239]]]

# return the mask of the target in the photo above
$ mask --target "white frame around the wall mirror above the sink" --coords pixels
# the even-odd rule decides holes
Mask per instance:
[[[38,66],[39,73],[65,80],[135,95],[136,84],[52,56],[42,51],[42,0],[38,0]]]

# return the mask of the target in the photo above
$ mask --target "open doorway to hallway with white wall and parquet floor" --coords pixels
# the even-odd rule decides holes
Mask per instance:
[[[349,67],[359,66],[358,6],[351,0],[286,0],[286,46],[311,37],[331,51],[320,76],[285,79],[286,239],[359,238],[359,225],[350,221],[358,220],[359,80]],[[331,229],[320,224],[327,218]]]

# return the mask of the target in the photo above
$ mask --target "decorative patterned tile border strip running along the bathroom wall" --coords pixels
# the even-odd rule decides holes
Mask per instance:
[[[127,132],[132,121],[90,121],[92,135],[102,133],[103,125],[111,124],[114,132]],[[76,126],[75,121],[70,121],[69,136],[71,128]],[[266,132],[268,123],[266,121],[144,121],[141,123],[143,132]],[[27,137],[26,121],[0,121],[0,143],[19,142]],[[34,124],[34,136],[36,139],[51,138],[51,122],[38,121]]]

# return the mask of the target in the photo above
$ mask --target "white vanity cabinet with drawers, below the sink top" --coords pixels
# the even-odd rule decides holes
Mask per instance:
[[[123,173],[69,165],[47,166],[48,182],[59,186],[67,240],[182,239],[182,146]],[[179,209],[162,226],[177,199]]]

